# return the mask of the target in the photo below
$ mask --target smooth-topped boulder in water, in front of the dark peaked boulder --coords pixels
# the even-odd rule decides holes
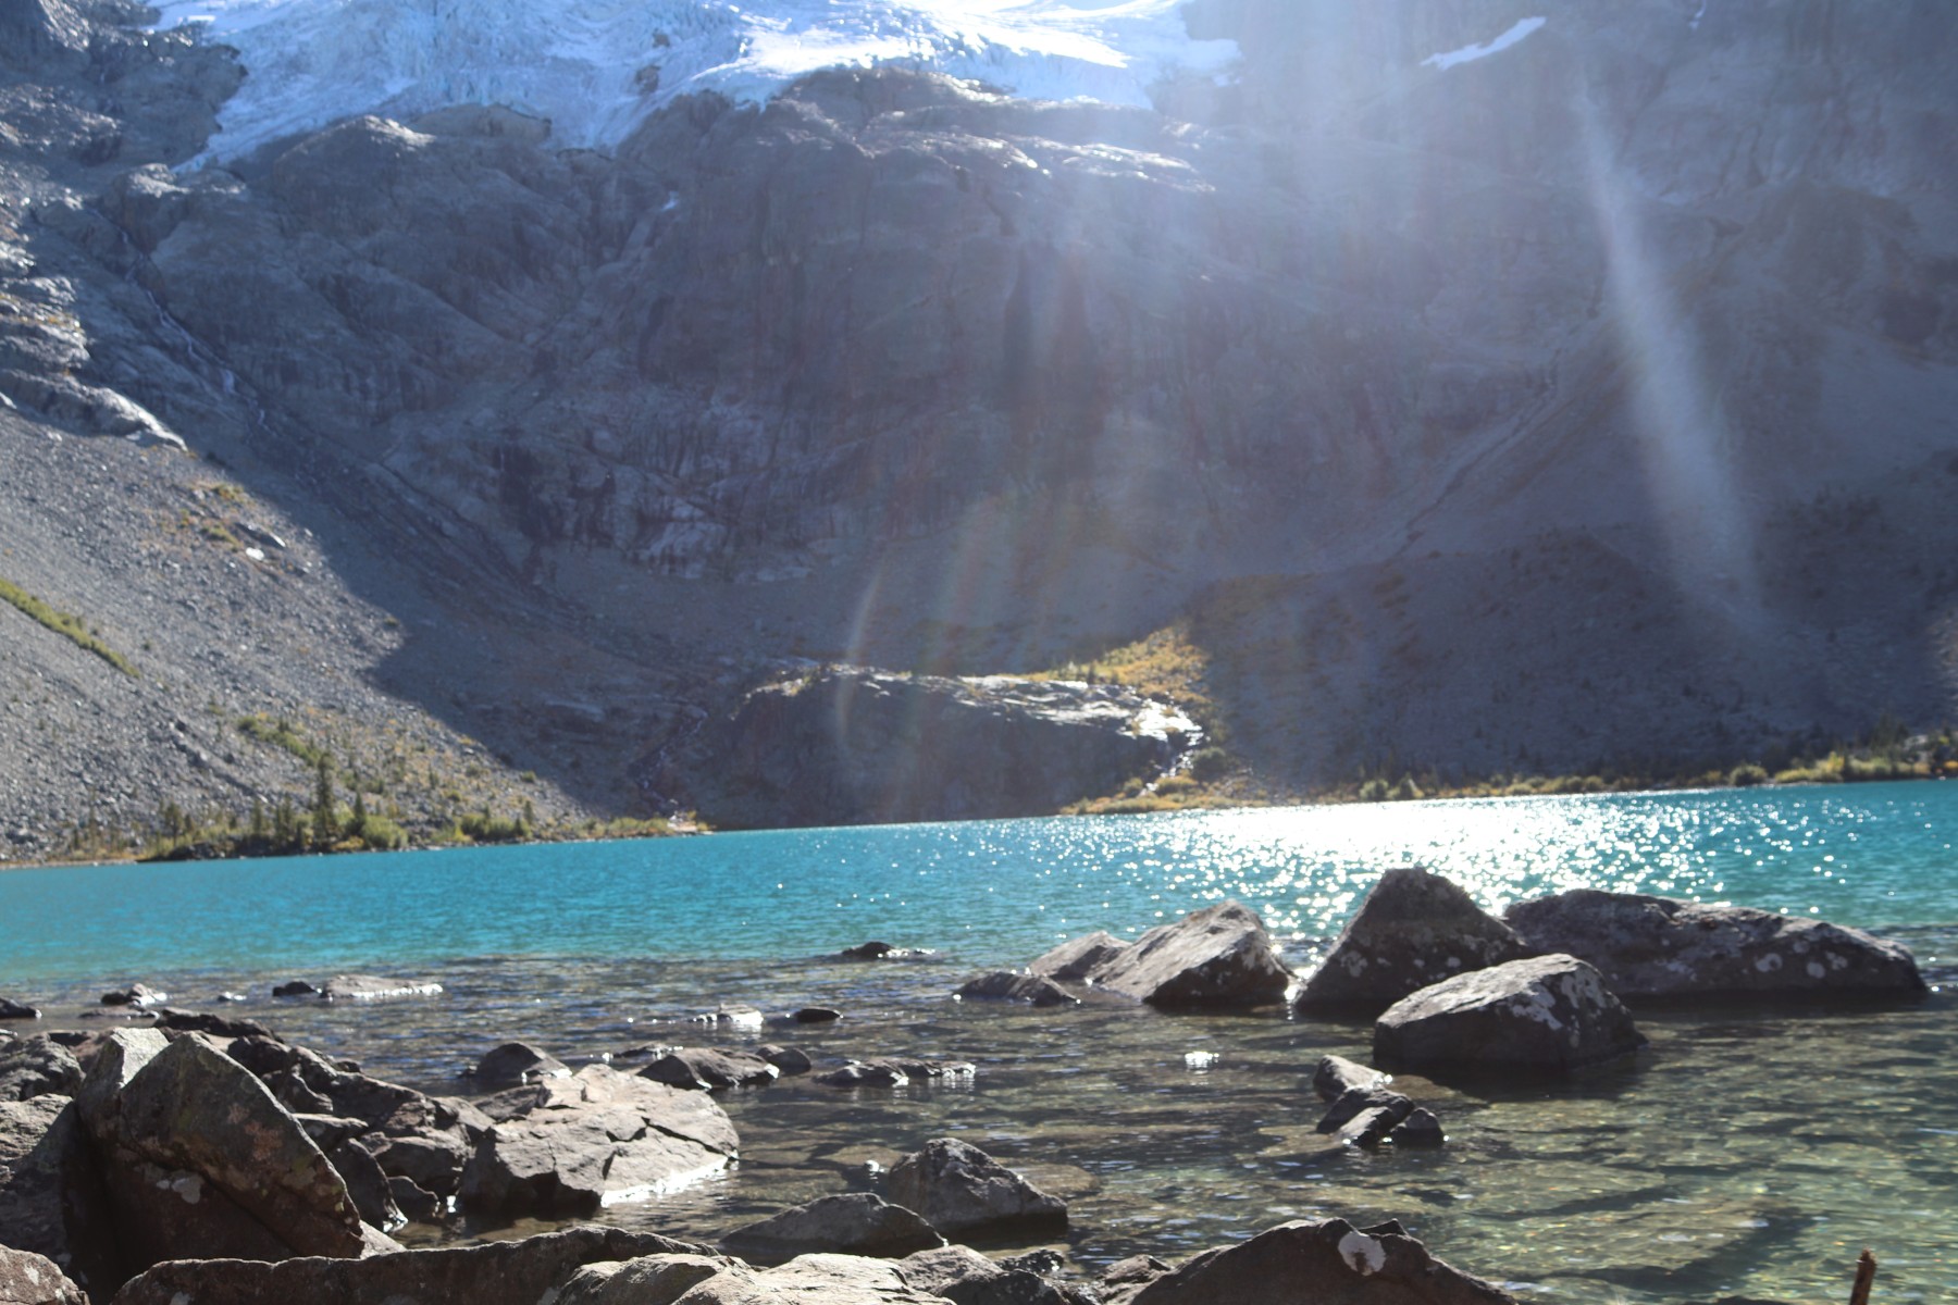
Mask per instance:
[[[1576,957],[1533,957],[1422,988],[1373,1025],[1382,1064],[1562,1072],[1645,1045],[1623,1002]]]

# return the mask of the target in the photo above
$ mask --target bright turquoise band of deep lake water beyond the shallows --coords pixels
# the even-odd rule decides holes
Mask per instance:
[[[1314,806],[717,833],[0,873],[0,984],[472,955],[807,957],[883,937],[1024,963],[1237,898],[1337,933],[1378,873],[1425,865],[1490,910],[1592,886],[1958,922],[1958,785]]]

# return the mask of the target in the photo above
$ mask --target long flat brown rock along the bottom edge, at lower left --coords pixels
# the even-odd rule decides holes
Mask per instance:
[[[582,1264],[676,1252],[707,1248],[652,1233],[564,1229],[368,1260],[176,1260],[131,1280],[116,1305],[536,1305]]]

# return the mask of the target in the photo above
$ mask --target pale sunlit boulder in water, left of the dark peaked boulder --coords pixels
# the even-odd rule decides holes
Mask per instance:
[[[1237,902],[1206,906],[1157,925],[1083,968],[1093,951],[1104,949],[1075,947],[1067,953],[1073,961],[1057,968],[1149,1006],[1263,1006],[1282,1000],[1292,982],[1265,922]]]

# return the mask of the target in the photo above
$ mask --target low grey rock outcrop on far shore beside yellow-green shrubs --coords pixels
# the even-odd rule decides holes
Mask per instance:
[[[1049,816],[1163,773],[1196,736],[1118,685],[824,669],[766,685],[715,726],[724,824]]]

